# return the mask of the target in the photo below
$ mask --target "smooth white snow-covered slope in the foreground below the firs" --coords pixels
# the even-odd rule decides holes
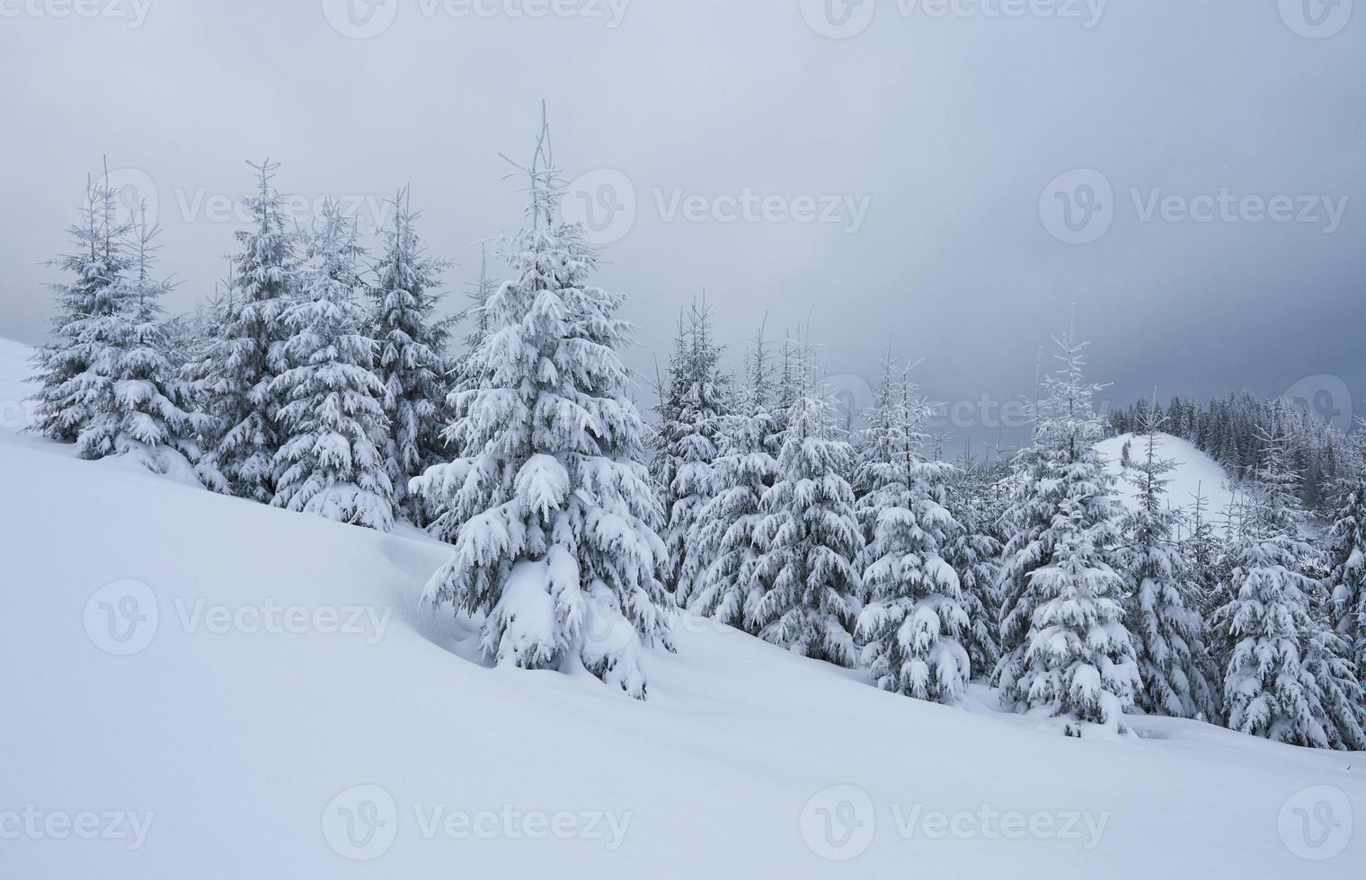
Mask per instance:
[[[0,345],[7,397],[23,356]],[[1311,846],[1320,802],[1341,821],[1341,794],[1366,821],[1363,754],[1173,720],[1065,739],[990,712],[984,689],[975,712],[918,703],[705,624],[649,658],[637,703],[587,674],[467,659],[445,614],[415,606],[445,558],[419,536],[78,461],[10,428],[0,480],[3,877],[1366,865],[1361,830],[1343,851],[1341,825]]]

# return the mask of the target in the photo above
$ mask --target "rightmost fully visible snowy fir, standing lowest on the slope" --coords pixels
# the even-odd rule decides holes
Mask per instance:
[[[1317,584],[1305,574],[1314,548],[1303,539],[1303,512],[1285,441],[1261,432],[1264,457],[1249,487],[1231,548],[1227,603],[1214,624],[1227,644],[1227,724],[1255,737],[1329,748],[1340,733],[1322,711],[1324,690],[1307,669],[1310,641],[1321,634],[1311,614]],[[1322,626],[1326,634],[1326,626]],[[1321,639],[1329,654],[1335,647]],[[1318,671],[1336,671],[1321,654]]]

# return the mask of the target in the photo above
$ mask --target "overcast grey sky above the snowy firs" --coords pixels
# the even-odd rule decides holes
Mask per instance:
[[[42,262],[101,153],[154,187],[172,311],[223,274],[265,156],[372,225],[410,183],[459,291],[519,220],[497,153],[527,154],[545,97],[619,239],[600,280],[638,368],[706,288],[732,347],[814,306],[832,375],[876,374],[891,336],[932,396],[1008,400],[1075,302],[1117,398],[1328,374],[1366,412],[1351,0],[351,1],[0,0],[0,333],[44,336]],[[634,220],[602,214],[623,179]]]

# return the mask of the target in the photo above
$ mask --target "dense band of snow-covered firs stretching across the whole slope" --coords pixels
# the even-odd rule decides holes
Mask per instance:
[[[705,303],[680,317],[649,424],[624,300],[593,284],[598,254],[560,213],[546,127],[518,169],[510,277],[485,263],[463,345],[406,191],[372,258],[333,205],[290,228],[275,172],[255,166],[228,295],[173,321],[156,231],[117,224],[116,194],[90,183],[36,355],[37,431],[261,503],[426,528],[452,546],[426,599],[478,626],[490,662],[586,669],[634,697],[686,610],[907,697],[993,685],[1068,735],[1156,714],[1366,748],[1366,463],[1348,438],[1314,445],[1290,408],[1250,398],[1106,422],[1070,329],[1029,445],[945,461],[936,405],[891,353],[851,431],[805,333],[761,329],[731,374]],[[1097,452],[1106,427],[1137,434],[1120,478]],[[1172,509],[1164,434],[1238,456],[1223,521]],[[1333,510],[1321,538],[1310,453]]]

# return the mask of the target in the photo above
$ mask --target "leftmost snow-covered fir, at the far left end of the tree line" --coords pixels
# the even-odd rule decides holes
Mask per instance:
[[[119,310],[120,288],[130,267],[124,236],[116,220],[117,190],[107,179],[87,180],[81,222],[71,226],[72,251],[56,265],[70,273],[53,284],[57,315],[52,338],[33,357],[33,430],[64,443],[78,442],[90,419],[112,411],[113,349],[109,319]],[[112,446],[105,431],[81,445],[83,457],[100,457]]]

